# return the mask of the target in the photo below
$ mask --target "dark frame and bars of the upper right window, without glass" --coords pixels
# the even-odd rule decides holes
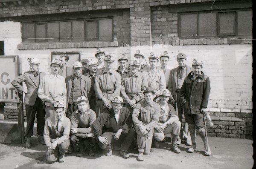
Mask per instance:
[[[218,22],[215,22],[215,30],[216,30],[216,35],[212,36],[212,38],[222,38],[222,37],[252,37],[251,35],[238,35],[238,11],[252,11],[251,8],[242,8],[242,9],[221,9],[221,10],[198,10],[198,11],[182,11],[182,12],[177,12],[178,13],[178,37],[180,39],[200,39],[200,38],[209,38],[209,36],[190,36],[190,37],[182,37],[180,36],[181,34],[181,23],[180,23],[180,15],[181,14],[197,14],[197,34],[198,34],[198,17],[199,13],[216,13],[216,20],[219,22],[219,13],[230,13],[230,12],[235,12],[235,18],[234,18],[234,35],[232,34],[221,34],[220,33],[220,26],[218,25]]]

